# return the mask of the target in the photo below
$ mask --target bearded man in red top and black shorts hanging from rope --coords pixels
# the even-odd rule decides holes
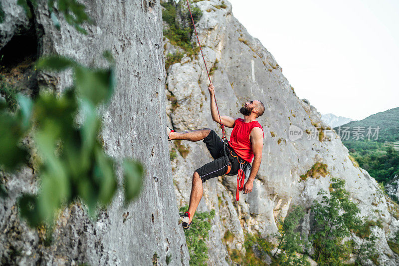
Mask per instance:
[[[263,128],[256,119],[261,116],[265,110],[263,103],[258,100],[246,102],[239,110],[240,113],[244,115],[243,119],[221,116],[219,120],[214,99],[214,86],[212,83],[209,84],[208,90],[210,94],[210,112],[213,121],[220,123],[221,120],[224,126],[233,128],[230,141],[225,145],[225,150],[223,141],[209,128],[185,132],[175,132],[168,128],[169,140],[203,140],[210,155],[214,159],[212,162],[203,165],[194,172],[189,210],[181,215],[184,229],[190,228],[194,214],[202,198],[202,183],[210,178],[224,174],[237,175],[239,170],[245,169],[253,159],[249,178],[242,188],[244,194],[250,193],[253,187],[253,180],[258,173],[260,162],[262,161],[264,135]],[[244,178],[245,176],[242,177],[242,182]],[[238,184],[236,197],[238,200]]]

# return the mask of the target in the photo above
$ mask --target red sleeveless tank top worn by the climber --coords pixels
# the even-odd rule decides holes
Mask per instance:
[[[249,135],[254,127],[260,127],[263,132],[262,126],[256,120],[244,123],[244,119],[242,118],[235,119],[230,141],[228,142],[234,152],[249,163],[252,162],[253,159],[252,143],[249,140]]]

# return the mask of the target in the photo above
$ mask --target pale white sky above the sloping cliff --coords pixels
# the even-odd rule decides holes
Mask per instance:
[[[300,99],[353,119],[399,107],[399,0],[229,0]]]

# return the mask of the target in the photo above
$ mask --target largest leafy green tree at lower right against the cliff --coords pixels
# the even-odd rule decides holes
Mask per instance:
[[[344,189],[345,181],[332,178],[330,185],[330,197],[321,190],[322,201],[314,202],[312,213],[314,215],[313,234],[310,240],[315,248],[314,260],[320,265],[342,265],[342,262],[350,259],[350,254],[357,254],[357,262],[374,256],[374,240],[370,236],[363,236],[360,246],[352,241],[352,232],[357,235],[369,230],[370,225],[363,224],[359,216],[360,210],[350,200],[349,193]]]

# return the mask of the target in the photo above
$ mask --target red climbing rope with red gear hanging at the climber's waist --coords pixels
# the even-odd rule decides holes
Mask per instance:
[[[194,18],[193,18],[193,14],[191,13],[191,8],[190,8],[190,4],[189,4],[189,0],[186,0],[187,2],[187,6],[189,7],[189,11],[190,11],[190,16],[191,16],[191,21],[193,22],[193,26],[194,26],[194,31],[196,32],[196,36],[197,36],[197,41],[198,41],[198,45],[200,46],[200,51],[201,51],[201,55],[202,55],[202,60],[203,60],[203,64],[205,65],[205,69],[206,69],[206,74],[208,75],[208,79],[209,79],[209,83],[212,83],[212,81],[210,80],[210,76],[209,76],[209,71],[208,68],[206,67],[206,62],[205,62],[205,57],[203,56],[203,52],[202,52],[202,47],[200,44],[200,38],[198,37],[198,33],[197,33],[197,28],[196,25],[194,23]],[[220,119],[220,113],[219,113],[219,108],[217,107],[217,101],[216,101],[216,96],[215,94],[213,94],[213,98],[215,99],[215,105],[216,105],[216,110],[217,110],[217,115],[219,116],[219,124],[220,124],[220,128],[221,128],[221,133],[222,133],[222,137],[221,137],[221,141],[223,141],[223,153],[224,156],[227,157],[226,154],[226,142],[227,142],[227,138],[226,138],[226,134],[224,132],[224,124],[221,122]],[[230,151],[231,152],[231,151]],[[231,152],[231,155],[232,152]],[[233,155],[234,156],[234,155]],[[234,156],[237,157],[238,160],[238,155]],[[227,158],[228,160],[228,158]],[[241,163],[239,160],[238,162],[240,163],[240,168],[238,169],[238,174],[237,174],[237,189],[235,192],[235,199],[238,201],[239,200],[239,192],[238,191],[242,191],[244,188],[244,180],[245,180],[245,174],[244,174],[244,164],[245,161],[243,163]],[[248,163],[249,164],[249,163]],[[245,167],[248,168],[248,167]],[[231,163],[229,162],[229,165],[227,166],[227,172],[225,174],[228,174],[231,170]],[[246,171],[245,171],[246,172]]]

